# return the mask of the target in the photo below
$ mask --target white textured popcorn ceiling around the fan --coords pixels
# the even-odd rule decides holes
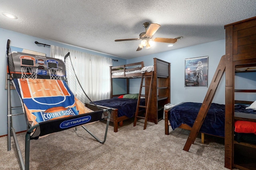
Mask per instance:
[[[126,59],[225,39],[224,25],[254,16],[256,0],[0,0],[0,28]],[[114,42],[139,38],[144,22],[161,25],[155,38],[184,38],[141,51]]]

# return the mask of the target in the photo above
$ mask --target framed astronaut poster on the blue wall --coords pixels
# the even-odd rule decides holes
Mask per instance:
[[[208,86],[208,56],[185,59],[186,86]]]

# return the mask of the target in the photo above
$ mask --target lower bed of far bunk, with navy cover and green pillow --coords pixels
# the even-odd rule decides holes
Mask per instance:
[[[122,98],[124,97],[124,98]],[[138,102],[138,94],[125,94],[120,95],[119,98],[111,98],[106,100],[99,100],[93,102],[94,104],[102,108],[111,108],[110,122],[114,124],[114,132],[118,132],[118,125],[122,126],[123,120],[134,117]],[[140,99],[140,104],[145,105],[145,99]],[[95,108],[90,103],[85,104],[88,108]],[[142,114],[144,110],[140,110],[139,114]]]

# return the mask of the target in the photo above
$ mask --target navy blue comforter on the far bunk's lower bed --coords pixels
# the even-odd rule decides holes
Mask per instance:
[[[118,109],[118,117],[127,116],[128,118],[131,118],[136,112],[137,101],[138,99],[111,98],[96,101],[94,104],[109,108],[116,108]],[[140,99],[140,105],[145,106],[145,99]]]

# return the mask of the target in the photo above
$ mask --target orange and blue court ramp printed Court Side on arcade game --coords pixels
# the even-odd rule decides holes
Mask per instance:
[[[42,122],[92,112],[70,91],[63,80],[18,79],[28,118]]]

